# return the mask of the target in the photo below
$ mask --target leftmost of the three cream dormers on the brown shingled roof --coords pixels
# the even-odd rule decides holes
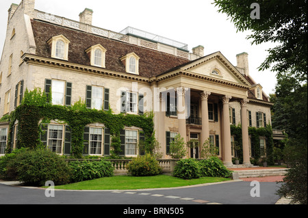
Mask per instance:
[[[51,57],[68,60],[68,38],[63,35],[53,36],[47,43],[51,46]]]

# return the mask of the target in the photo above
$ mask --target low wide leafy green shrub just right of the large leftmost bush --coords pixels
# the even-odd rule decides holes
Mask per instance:
[[[69,166],[72,171],[70,182],[81,182],[114,175],[114,166],[110,161],[74,161],[70,162]]]

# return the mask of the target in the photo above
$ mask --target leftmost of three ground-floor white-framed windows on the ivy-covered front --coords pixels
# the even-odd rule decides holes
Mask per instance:
[[[47,137],[47,148],[49,150],[62,154],[63,133],[63,125],[49,125]]]

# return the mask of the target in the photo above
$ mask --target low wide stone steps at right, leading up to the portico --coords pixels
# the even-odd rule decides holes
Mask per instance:
[[[238,173],[238,178],[252,178],[264,176],[284,176],[287,169],[249,169],[249,170],[233,170]]]

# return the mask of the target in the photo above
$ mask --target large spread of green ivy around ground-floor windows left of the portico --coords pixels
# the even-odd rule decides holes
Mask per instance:
[[[71,130],[71,154],[81,158],[84,150],[84,127],[88,124],[101,123],[110,129],[112,137],[112,156],[118,157],[120,149],[120,131],[125,126],[142,128],[144,146],[151,147],[154,136],[153,113],[144,115],[114,114],[112,110],[99,111],[87,109],[86,104],[79,100],[73,106],[51,105],[51,96],[47,98],[39,89],[29,92],[26,90],[23,103],[10,114],[10,134],[6,152],[12,151],[12,129],[18,120],[17,148],[38,148],[40,141],[40,120],[49,123],[51,120],[64,122]]]

